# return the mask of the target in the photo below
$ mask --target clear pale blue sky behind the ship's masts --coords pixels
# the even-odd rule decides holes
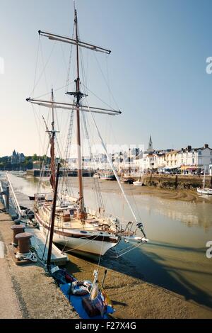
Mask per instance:
[[[57,89],[66,84],[70,46],[40,39],[37,30],[72,35],[73,1],[0,5],[0,156],[13,149],[39,154],[45,149],[41,115],[49,118],[25,98],[49,98],[53,86],[55,99],[67,101]],[[112,50],[109,57],[83,51],[82,82],[122,111],[96,118],[105,140],[146,146],[151,135],[155,149],[212,146],[211,0],[77,0],[76,7],[81,40]],[[73,81],[72,61],[70,73]],[[91,105],[102,106],[89,95]],[[69,114],[61,111],[58,118],[65,142]]]

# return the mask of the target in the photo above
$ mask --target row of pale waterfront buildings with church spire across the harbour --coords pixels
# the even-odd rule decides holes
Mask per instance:
[[[117,171],[131,170],[133,173],[141,171],[159,171],[178,169],[184,174],[200,173],[206,167],[209,174],[212,165],[212,149],[204,147],[192,148],[191,145],[182,149],[154,150],[150,136],[148,149],[139,152],[129,149],[128,152],[114,152],[110,154],[114,168]],[[69,169],[77,169],[76,159],[69,159]],[[83,169],[103,170],[111,169],[105,154],[96,154],[92,158],[83,157]]]

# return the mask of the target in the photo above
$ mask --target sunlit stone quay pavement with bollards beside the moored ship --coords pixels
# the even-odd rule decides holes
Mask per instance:
[[[77,313],[42,266],[16,266],[8,247],[11,225],[10,216],[0,213],[0,242],[4,242],[0,258],[0,318],[77,319]]]

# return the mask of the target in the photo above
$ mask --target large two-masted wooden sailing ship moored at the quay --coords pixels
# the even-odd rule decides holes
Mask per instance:
[[[73,111],[76,115],[76,141],[77,141],[77,159],[78,159],[78,197],[69,196],[67,193],[57,193],[57,205],[55,210],[54,220],[54,236],[53,241],[56,244],[61,244],[66,249],[71,251],[77,251],[82,253],[104,255],[109,249],[116,247],[117,244],[124,239],[126,242],[136,242],[138,245],[144,244],[148,241],[146,233],[143,229],[141,221],[137,220],[134,210],[126,198],[122,185],[119,181],[117,171],[114,169],[112,161],[107,154],[105,143],[100,135],[100,130],[95,123],[93,113],[107,114],[107,115],[119,115],[121,111],[113,109],[91,107],[83,103],[86,101],[87,95],[81,91],[80,80],[80,61],[79,50],[84,47],[88,50],[95,52],[103,52],[110,55],[111,51],[90,43],[83,42],[78,38],[78,17],[77,11],[74,9],[74,38],[67,38],[62,35],[56,35],[53,33],[47,33],[39,30],[39,35],[49,38],[49,40],[59,41],[61,43],[72,44],[76,47],[76,90],[67,92],[66,94],[73,97],[73,103],[64,103],[54,101],[54,92],[52,90],[51,100],[42,100],[35,98],[27,98],[26,101],[37,104],[42,107],[52,109],[52,128],[49,130],[46,124],[46,130],[49,133],[49,144],[51,154],[51,177],[50,184],[52,186],[51,193],[35,193],[35,220],[40,227],[40,230],[45,235],[48,235],[50,230],[50,221],[52,216],[53,205],[53,193],[55,189],[55,139],[57,136],[57,130],[54,126],[54,111],[55,109],[64,109]],[[83,100],[83,101],[82,101]],[[94,127],[97,130],[98,137],[102,143],[102,147],[105,149],[107,160],[110,163],[111,169],[114,172],[114,176],[118,181],[124,199],[129,206],[129,210],[133,215],[134,222],[127,222],[126,225],[122,225],[117,217],[107,215],[105,210],[100,207],[97,211],[91,210],[86,206],[84,201],[83,192],[83,174],[82,174],[82,156],[81,156],[81,115],[83,113],[90,113],[93,120]],[[94,179],[98,181],[98,179]],[[140,232],[140,235],[136,235],[136,232]]]

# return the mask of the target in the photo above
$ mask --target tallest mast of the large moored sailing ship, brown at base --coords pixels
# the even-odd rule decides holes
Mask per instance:
[[[83,200],[83,174],[82,174],[82,157],[81,157],[81,123],[80,123],[80,104],[83,94],[80,91],[80,77],[79,77],[79,47],[78,47],[78,22],[77,12],[75,9],[75,31],[76,31],[76,139],[77,139],[77,157],[78,157],[78,188],[79,188],[79,205],[80,212],[79,218],[81,220],[86,218],[86,211]]]

